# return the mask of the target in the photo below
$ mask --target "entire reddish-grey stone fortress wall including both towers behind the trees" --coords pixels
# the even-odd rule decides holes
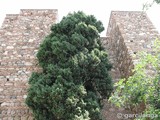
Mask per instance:
[[[0,120],[33,119],[24,103],[27,82],[33,71],[40,70],[35,56],[50,26],[56,23],[57,14],[54,9],[23,9],[20,14],[6,15],[0,28]],[[113,64],[114,82],[132,74],[138,60],[133,55],[142,50],[151,52],[151,43],[158,36],[146,13],[111,12],[102,43]]]

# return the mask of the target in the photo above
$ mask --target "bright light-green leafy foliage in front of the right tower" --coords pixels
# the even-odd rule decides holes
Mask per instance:
[[[160,41],[155,41],[152,54],[141,52],[134,75],[115,84],[116,90],[110,101],[119,107],[136,108],[144,103],[144,114],[160,120]],[[152,73],[153,72],[153,73]],[[146,117],[137,118],[146,120]],[[148,120],[148,119],[147,119]]]

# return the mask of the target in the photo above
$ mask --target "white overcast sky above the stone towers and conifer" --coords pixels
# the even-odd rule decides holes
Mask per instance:
[[[58,9],[59,21],[69,12],[84,11],[93,14],[103,22],[105,36],[110,12],[141,11],[143,3],[152,0],[1,0],[0,26],[6,14],[18,14],[20,9]],[[160,5],[154,4],[148,11],[148,16],[160,32]]]

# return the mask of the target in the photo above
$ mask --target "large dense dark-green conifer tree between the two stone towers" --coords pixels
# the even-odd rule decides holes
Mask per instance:
[[[27,105],[37,120],[101,120],[109,97],[111,65],[100,42],[104,30],[93,15],[68,14],[51,27],[37,58],[43,71],[30,77]]]

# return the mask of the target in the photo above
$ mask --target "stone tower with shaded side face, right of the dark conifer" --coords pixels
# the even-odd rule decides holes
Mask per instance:
[[[105,46],[119,77],[127,78],[137,63],[137,52],[152,52],[152,45],[159,33],[145,12],[112,11],[107,29]]]

